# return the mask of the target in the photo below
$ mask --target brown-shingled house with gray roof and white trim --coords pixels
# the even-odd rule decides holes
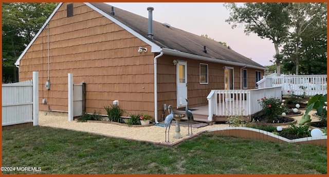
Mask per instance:
[[[149,12],[148,12],[148,11]],[[211,90],[254,89],[264,66],[217,42],[104,3],[60,3],[16,61],[20,81],[39,71],[43,111],[67,111],[67,74],[86,84],[86,112],[127,113],[155,121],[163,104],[207,104]],[[45,84],[50,82],[50,89]]]

